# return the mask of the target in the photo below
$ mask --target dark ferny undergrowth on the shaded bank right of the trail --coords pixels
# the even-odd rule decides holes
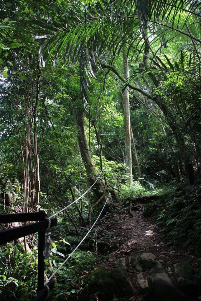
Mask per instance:
[[[201,184],[178,185],[173,192],[145,206],[145,216],[155,215],[157,226],[168,240],[200,253],[201,247]]]

